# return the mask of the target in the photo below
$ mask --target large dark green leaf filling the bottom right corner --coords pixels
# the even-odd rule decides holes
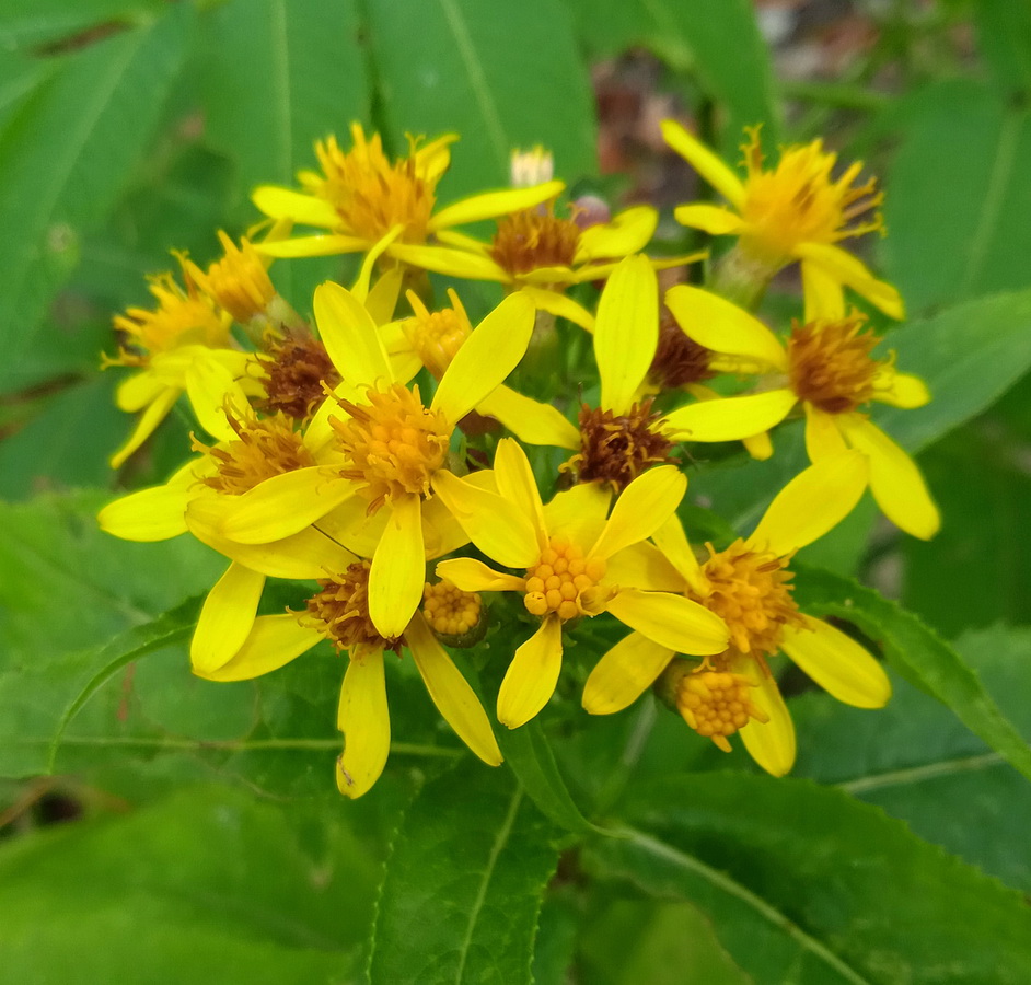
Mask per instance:
[[[756,982],[1020,983],[1031,912],[902,822],[808,780],[656,784],[591,868],[707,913]]]

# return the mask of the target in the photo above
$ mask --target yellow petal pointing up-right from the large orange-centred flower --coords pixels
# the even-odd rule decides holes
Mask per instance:
[[[432,408],[457,424],[503,383],[530,345],[534,315],[525,294],[509,294],[455,354],[433,394]]]

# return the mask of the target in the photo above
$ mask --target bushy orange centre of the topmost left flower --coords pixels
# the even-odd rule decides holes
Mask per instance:
[[[354,146],[347,152],[335,137],[320,140],[315,154],[323,174],[303,173],[301,182],[336,209],[343,229],[352,235],[380,240],[401,225],[401,242],[425,242],[437,178],[419,166],[416,142],[409,138],[408,157],[391,163],[379,134],[367,139],[355,124],[351,137]]]

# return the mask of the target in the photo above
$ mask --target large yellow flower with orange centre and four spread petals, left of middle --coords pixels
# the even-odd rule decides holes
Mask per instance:
[[[274,476],[236,498],[218,533],[241,544],[278,541],[350,501],[385,524],[372,553],[369,610],[384,638],[398,636],[422,596],[422,511],[435,478],[447,473],[447,451],[461,419],[497,387],[522,358],[533,331],[533,304],[522,294],[502,301],[472,334],[440,380],[429,406],[418,387],[397,378],[375,322],[347,289],[315,291],[315,318],[344,378],[304,431],[316,455],[339,462]]]

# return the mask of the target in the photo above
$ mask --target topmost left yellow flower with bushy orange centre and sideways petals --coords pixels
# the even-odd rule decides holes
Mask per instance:
[[[351,124],[351,150],[346,152],[334,137],[315,144],[322,173],[302,172],[303,192],[276,185],[255,190],[254,204],[266,216],[327,230],[322,235],[262,244],[262,253],[283,257],[359,253],[399,230],[384,255],[420,266],[419,248],[429,237],[454,225],[532,208],[564,187],[561,182],[546,182],[534,188],[488,192],[435,211],[437,183],[451,163],[448,146],[456,136],[440,137],[422,147],[409,138],[407,157],[393,163],[383,153],[379,134],[367,139],[356,123]],[[445,273],[475,276],[467,273],[464,255],[454,253]]]

